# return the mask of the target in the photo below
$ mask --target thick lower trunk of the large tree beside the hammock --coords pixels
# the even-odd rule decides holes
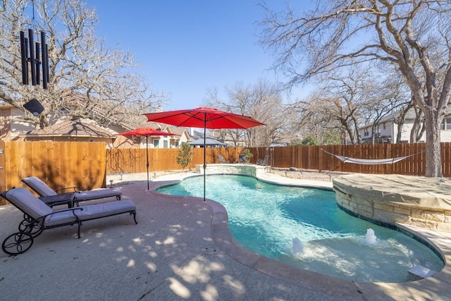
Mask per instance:
[[[443,118],[436,118],[433,110],[424,112],[426,118],[426,177],[443,176],[442,155],[440,149],[440,123]]]

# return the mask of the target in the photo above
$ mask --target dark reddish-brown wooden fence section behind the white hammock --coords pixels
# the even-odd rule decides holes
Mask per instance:
[[[388,159],[400,156],[413,156],[409,156],[395,164],[350,164],[323,152],[322,149],[332,154],[357,159]],[[268,165],[280,168],[295,167],[350,173],[396,173],[409,176],[424,176],[426,173],[426,144],[424,143],[257,147],[250,150],[254,158],[263,159],[265,154],[268,154]],[[443,176],[451,177],[451,142],[443,142],[441,151]]]

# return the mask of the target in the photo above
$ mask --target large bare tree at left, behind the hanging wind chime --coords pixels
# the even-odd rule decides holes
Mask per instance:
[[[67,98],[70,92],[83,97],[82,105],[69,115],[88,116],[99,123],[130,119],[142,109],[152,111],[152,106],[164,99],[145,85],[130,51],[108,49],[96,37],[97,16],[82,1],[1,0],[0,11],[0,98],[17,107],[32,98],[39,99],[44,112],[39,117],[27,117],[41,128],[48,125],[51,116],[61,113],[61,108],[74,108],[67,104],[73,101]],[[22,85],[19,32],[27,28],[46,32],[51,79],[48,90]],[[103,113],[95,113],[99,111]]]

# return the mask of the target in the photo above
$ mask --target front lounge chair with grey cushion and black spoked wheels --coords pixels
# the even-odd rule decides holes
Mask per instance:
[[[9,235],[1,245],[6,254],[16,255],[27,251],[34,239],[50,228],[77,224],[80,238],[82,221],[130,213],[137,223],[136,206],[131,199],[54,211],[25,188],[13,188],[0,195],[24,213],[24,219],[19,223],[19,232]]]

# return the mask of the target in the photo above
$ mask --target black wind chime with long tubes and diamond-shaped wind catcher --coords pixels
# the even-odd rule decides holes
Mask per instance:
[[[45,32],[41,32],[41,43],[35,42],[33,30],[28,29],[28,37],[26,33],[20,30],[20,59],[22,63],[22,83],[30,84],[29,75],[31,74],[31,84],[33,86],[41,85],[42,70],[42,87],[47,90],[49,79],[49,46],[45,42]],[[30,111],[34,116],[38,116],[44,107],[35,98],[31,99],[23,105],[25,109]]]

